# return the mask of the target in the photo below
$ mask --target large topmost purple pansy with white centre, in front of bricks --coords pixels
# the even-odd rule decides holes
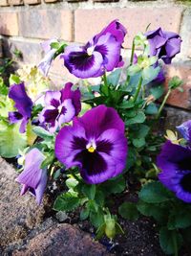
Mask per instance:
[[[126,29],[114,20],[85,46],[67,46],[60,58],[64,58],[65,66],[77,78],[102,76],[123,65],[120,50],[125,35]]]

